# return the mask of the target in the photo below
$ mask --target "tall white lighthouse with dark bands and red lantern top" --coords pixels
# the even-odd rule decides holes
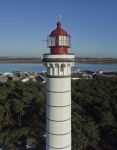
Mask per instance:
[[[47,37],[50,48],[43,55],[47,67],[46,150],[71,150],[71,67],[75,55],[68,53],[70,35],[61,21]]]

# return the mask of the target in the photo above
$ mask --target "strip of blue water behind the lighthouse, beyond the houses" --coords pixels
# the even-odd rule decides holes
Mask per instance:
[[[106,71],[117,71],[117,64],[75,64],[73,70],[106,70]],[[42,72],[46,71],[46,67],[43,64],[0,64],[0,72]]]

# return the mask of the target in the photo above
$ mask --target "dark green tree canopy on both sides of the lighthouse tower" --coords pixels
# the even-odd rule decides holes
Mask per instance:
[[[0,83],[0,146],[22,150],[28,138],[45,148],[45,84]],[[72,149],[116,150],[117,78],[72,81]]]

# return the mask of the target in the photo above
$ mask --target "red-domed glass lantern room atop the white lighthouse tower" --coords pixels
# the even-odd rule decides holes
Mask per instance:
[[[57,22],[57,28],[47,38],[47,45],[51,54],[67,54],[70,47],[70,35],[62,29],[61,22]]]

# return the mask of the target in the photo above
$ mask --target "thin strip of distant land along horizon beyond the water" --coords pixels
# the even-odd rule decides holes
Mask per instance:
[[[76,58],[82,64],[117,64],[117,58]],[[0,64],[40,64],[41,58],[0,58]]]

